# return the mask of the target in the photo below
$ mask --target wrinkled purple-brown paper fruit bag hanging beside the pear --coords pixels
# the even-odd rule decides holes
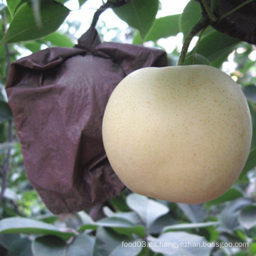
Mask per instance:
[[[51,212],[85,210],[122,191],[102,144],[107,100],[132,71],[165,65],[163,50],[101,43],[92,27],[74,48],[11,64],[6,92],[26,174]]]

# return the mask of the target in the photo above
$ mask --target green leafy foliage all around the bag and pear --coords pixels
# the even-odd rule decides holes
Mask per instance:
[[[78,2],[82,6],[86,0]],[[255,47],[207,28],[185,61],[187,65],[207,64],[225,70],[229,60],[235,65],[230,75],[242,86],[250,105],[252,150],[240,178],[227,193],[204,205],[192,206],[153,200],[125,190],[95,208],[53,215],[26,178],[4,85],[9,63],[20,58],[24,51],[73,46],[74,40],[68,31],[56,31],[67,22],[64,20],[70,10],[63,5],[63,0],[7,0],[7,5],[4,3],[0,2],[2,184],[9,169],[8,187],[0,210],[0,250],[4,255],[255,255]],[[178,33],[185,37],[201,18],[200,6],[194,0],[188,3],[183,14],[161,18],[156,18],[158,4],[157,0],[134,0],[114,9],[132,27],[129,31],[132,31],[133,43],[159,47],[162,38]],[[5,28],[8,30],[4,31]],[[176,48],[169,53],[169,62],[176,65],[177,58]]]

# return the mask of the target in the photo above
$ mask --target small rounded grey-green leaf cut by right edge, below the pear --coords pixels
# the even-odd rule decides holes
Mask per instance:
[[[256,206],[246,206],[240,212],[239,223],[247,230],[256,225]]]

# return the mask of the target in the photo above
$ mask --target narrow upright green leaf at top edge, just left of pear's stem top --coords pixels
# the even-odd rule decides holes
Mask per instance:
[[[183,40],[188,35],[191,28],[198,23],[200,18],[202,17],[202,9],[198,1],[191,0],[188,2],[186,7],[183,10],[183,14],[181,14],[180,18],[180,26],[181,31],[183,33]]]

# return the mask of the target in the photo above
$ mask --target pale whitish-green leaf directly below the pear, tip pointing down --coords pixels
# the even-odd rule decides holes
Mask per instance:
[[[136,193],[127,196],[127,205],[138,213],[139,217],[146,224],[146,228],[149,228],[161,215],[169,212],[169,208],[164,206],[164,204]]]

